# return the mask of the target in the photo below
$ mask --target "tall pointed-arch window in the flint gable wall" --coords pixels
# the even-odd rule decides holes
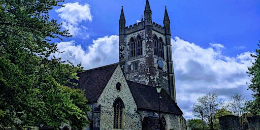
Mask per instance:
[[[114,128],[123,128],[124,103],[117,98],[113,104],[114,107]]]

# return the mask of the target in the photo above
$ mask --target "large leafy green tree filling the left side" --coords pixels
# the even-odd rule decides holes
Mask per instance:
[[[76,85],[70,81],[82,68],[50,58],[58,52],[52,41],[71,37],[49,19],[49,10],[60,2],[0,1],[0,126],[68,123],[82,129],[88,123],[84,92],[66,87]]]

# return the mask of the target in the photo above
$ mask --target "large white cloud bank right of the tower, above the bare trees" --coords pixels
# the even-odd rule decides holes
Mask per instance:
[[[245,84],[249,82],[250,53],[229,57],[221,53],[224,48],[221,44],[202,48],[178,37],[172,39],[177,103],[186,118],[192,117],[192,105],[206,92],[216,91],[225,99],[235,92],[250,96]]]

